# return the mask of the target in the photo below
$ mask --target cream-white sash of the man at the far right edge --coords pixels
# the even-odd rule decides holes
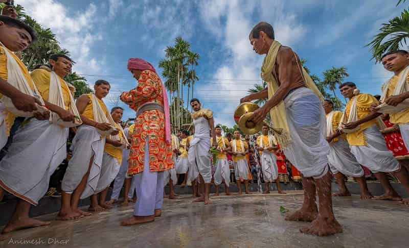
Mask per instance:
[[[409,73],[409,66],[406,66],[406,68],[400,73],[398,83],[396,84],[396,87],[393,90],[392,95],[400,95],[404,92],[409,91],[409,86],[408,84],[406,84],[406,77],[408,73]],[[382,96],[380,98],[381,104],[378,107],[376,107],[379,113],[396,114],[396,113],[399,113],[409,108],[409,99],[406,99],[405,101],[398,104],[397,106],[389,106],[388,104],[385,103],[385,100],[387,100],[388,86],[390,82],[391,80],[389,80],[382,86]]]

